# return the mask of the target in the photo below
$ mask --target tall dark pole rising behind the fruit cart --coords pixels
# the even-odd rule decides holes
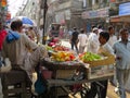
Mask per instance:
[[[43,45],[46,45],[46,36],[44,36],[44,34],[46,34],[46,14],[47,14],[47,0],[43,0],[43,39],[42,39],[42,44]]]

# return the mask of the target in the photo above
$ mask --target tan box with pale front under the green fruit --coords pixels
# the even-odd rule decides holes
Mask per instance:
[[[103,76],[110,77],[114,75],[115,58],[114,56],[109,56],[103,60],[87,62],[84,65],[87,68],[88,79]]]

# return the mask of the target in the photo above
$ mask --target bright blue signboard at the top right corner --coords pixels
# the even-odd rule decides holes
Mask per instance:
[[[130,15],[130,2],[119,4],[119,15]]]

